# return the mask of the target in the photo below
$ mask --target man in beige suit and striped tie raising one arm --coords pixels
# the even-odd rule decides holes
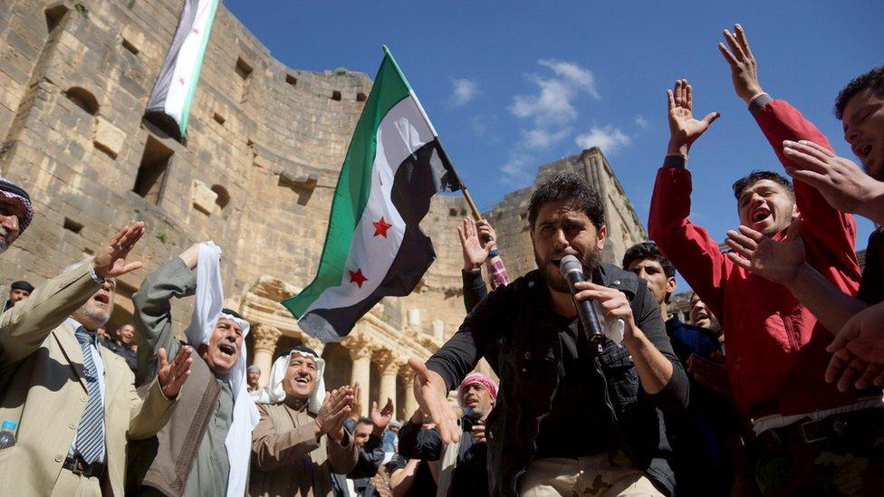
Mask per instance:
[[[5,495],[122,495],[127,437],[154,435],[189,374],[189,350],[168,364],[143,402],[122,358],[94,330],[110,317],[114,278],[144,224],[123,228],[88,263],[44,283],[0,316],[0,419],[17,442],[0,451]]]

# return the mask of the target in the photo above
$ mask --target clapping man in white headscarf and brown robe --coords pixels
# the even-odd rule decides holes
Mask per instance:
[[[344,429],[351,387],[325,395],[325,361],[296,347],[277,358],[270,373],[270,402],[259,404],[252,433],[252,496],[331,496],[331,473],[350,473],[359,454]]]

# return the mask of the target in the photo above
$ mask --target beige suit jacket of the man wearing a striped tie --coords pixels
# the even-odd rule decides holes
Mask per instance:
[[[18,423],[17,443],[0,450],[0,494],[53,491],[89,398],[82,349],[62,322],[98,289],[83,264],[0,316],[0,421]],[[101,359],[107,454],[101,489],[121,496],[127,436],[156,435],[174,404],[156,381],[142,401],[126,361],[103,347]]]

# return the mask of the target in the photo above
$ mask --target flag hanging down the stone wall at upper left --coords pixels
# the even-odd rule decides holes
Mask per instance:
[[[166,60],[150,92],[145,117],[164,129],[177,130],[180,139],[187,129],[187,114],[197,91],[208,35],[220,0],[185,0],[178,28]]]

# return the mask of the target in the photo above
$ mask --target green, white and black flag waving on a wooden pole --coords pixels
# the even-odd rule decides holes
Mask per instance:
[[[331,204],[316,279],[283,301],[322,342],[346,336],[382,297],[408,295],[436,259],[418,226],[457,180],[436,129],[386,50]]]

